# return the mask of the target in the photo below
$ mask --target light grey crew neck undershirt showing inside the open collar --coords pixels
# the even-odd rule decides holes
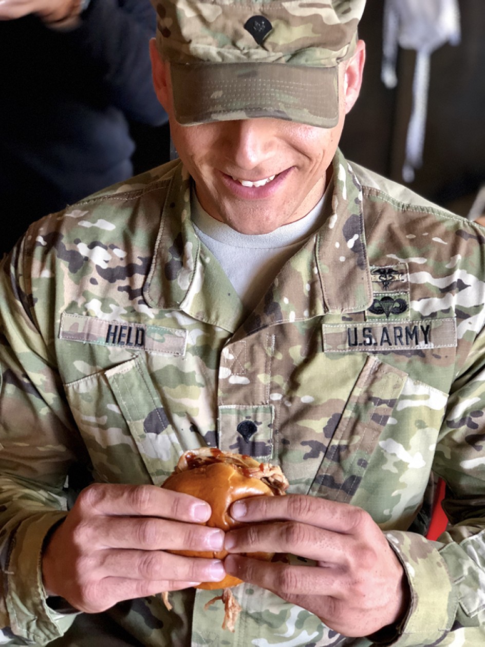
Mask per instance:
[[[321,226],[325,194],[300,220],[269,234],[249,235],[207,214],[192,188],[190,212],[196,234],[218,259],[247,309],[254,309],[286,261]]]

